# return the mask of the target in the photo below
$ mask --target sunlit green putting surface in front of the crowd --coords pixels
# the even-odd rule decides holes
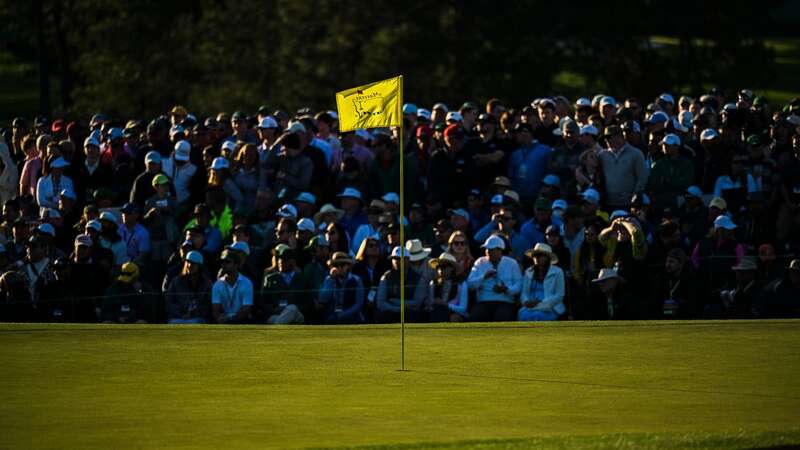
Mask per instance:
[[[0,326],[0,448],[800,444],[800,321]]]

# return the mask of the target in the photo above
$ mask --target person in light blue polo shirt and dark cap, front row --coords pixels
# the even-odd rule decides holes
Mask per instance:
[[[217,323],[250,322],[253,307],[253,283],[239,273],[240,259],[229,250],[222,251],[221,276],[211,289],[211,307]]]

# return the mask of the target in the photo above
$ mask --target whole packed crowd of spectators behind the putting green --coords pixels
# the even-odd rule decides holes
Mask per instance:
[[[403,121],[16,118],[0,321],[391,323],[402,287],[416,322],[800,317],[798,99],[407,103]]]

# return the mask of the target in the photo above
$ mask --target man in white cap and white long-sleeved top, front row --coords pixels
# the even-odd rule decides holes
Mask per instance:
[[[490,236],[481,246],[486,251],[472,266],[467,285],[476,292],[477,304],[470,313],[476,322],[516,320],[515,297],[522,287],[522,272],[513,258],[504,256],[505,241]]]

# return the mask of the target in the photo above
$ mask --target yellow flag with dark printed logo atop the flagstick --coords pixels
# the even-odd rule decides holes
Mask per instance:
[[[399,127],[403,123],[403,76],[336,93],[339,131]]]

